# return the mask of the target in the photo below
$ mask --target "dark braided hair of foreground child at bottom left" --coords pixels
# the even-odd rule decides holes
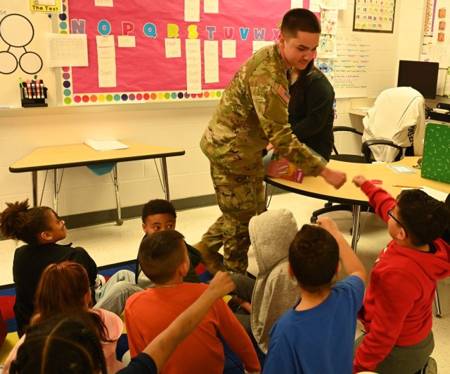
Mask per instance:
[[[11,362],[11,374],[106,374],[103,349],[89,320],[60,315],[27,329]]]

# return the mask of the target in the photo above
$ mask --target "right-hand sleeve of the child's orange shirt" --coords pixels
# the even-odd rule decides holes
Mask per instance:
[[[217,313],[219,314],[219,333],[226,344],[238,355],[245,370],[250,373],[261,371],[252,341],[229,306],[225,304],[223,299],[216,301],[214,306],[217,306]]]

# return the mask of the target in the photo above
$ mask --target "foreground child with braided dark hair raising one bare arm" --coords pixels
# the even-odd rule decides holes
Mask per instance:
[[[205,292],[181,313],[118,374],[157,374],[186,336],[198,326],[217,299],[233,289],[226,273],[218,273]],[[105,357],[86,318],[62,315],[30,326],[27,339],[11,363],[11,374],[106,374]]]

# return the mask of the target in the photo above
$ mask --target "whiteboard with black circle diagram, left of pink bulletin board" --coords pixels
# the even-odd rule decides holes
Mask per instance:
[[[56,105],[54,70],[46,66],[45,33],[52,32],[52,17],[32,13],[26,1],[0,0],[0,107],[21,107],[20,79],[42,80],[46,102]]]

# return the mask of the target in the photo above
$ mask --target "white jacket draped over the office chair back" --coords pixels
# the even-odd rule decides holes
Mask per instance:
[[[401,148],[413,145],[414,154],[421,155],[425,133],[425,99],[411,87],[385,89],[368,109],[363,124],[363,142],[384,139]],[[391,162],[398,158],[399,147],[378,144],[371,147],[371,152],[375,161]]]

